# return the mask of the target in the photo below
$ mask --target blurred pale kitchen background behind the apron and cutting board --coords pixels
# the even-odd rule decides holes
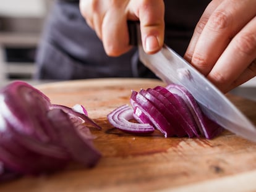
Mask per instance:
[[[0,0],[0,87],[11,80],[32,84],[34,56],[54,0]],[[231,91],[256,101],[256,77]]]

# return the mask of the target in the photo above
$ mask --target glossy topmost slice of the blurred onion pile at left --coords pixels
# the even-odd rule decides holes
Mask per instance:
[[[17,131],[25,132],[41,141],[49,141],[54,133],[46,126],[41,128],[37,118],[48,110],[49,100],[30,85],[14,82],[0,91],[0,114]],[[35,110],[36,109],[36,110]]]

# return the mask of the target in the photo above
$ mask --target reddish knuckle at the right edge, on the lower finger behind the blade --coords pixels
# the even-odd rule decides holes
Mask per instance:
[[[242,33],[234,38],[235,48],[245,55],[252,55],[256,49],[256,35],[252,33]]]

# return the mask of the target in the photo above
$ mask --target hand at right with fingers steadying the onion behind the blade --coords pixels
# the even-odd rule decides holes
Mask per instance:
[[[256,1],[213,0],[185,59],[224,93],[256,75]]]

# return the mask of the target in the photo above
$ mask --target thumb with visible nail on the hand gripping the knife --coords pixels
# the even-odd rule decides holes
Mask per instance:
[[[134,15],[140,20],[143,49],[148,54],[154,54],[161,49],[164,41],[164,2],[148,0],[135,3]]]

